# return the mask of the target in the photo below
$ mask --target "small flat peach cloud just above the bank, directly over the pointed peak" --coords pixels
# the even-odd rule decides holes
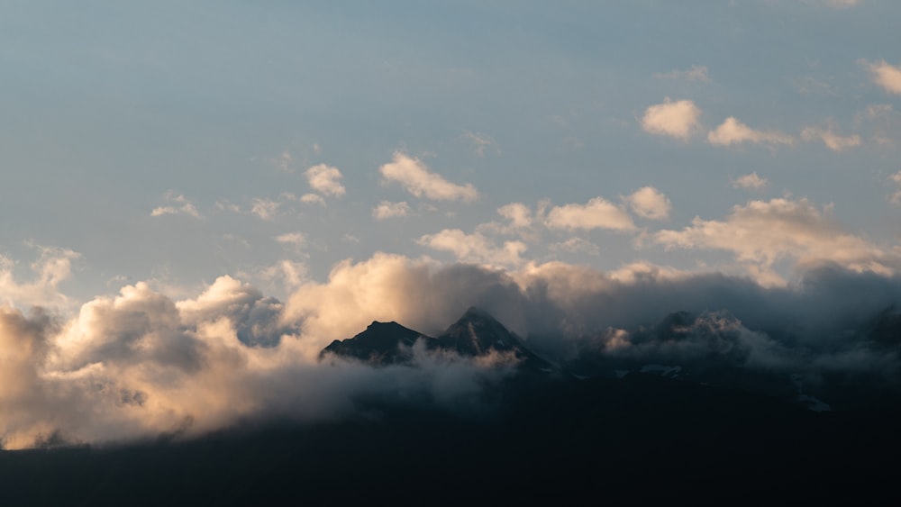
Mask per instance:
[[[467,234],[460,229],[445,229],[437,234],[426,234],[417,243],[435,250],[449,251],[461,262],[474,262],[489,266],[517,266],[523,263],[527,249],[522,241],[505,241],[496,246],[482,234]]]

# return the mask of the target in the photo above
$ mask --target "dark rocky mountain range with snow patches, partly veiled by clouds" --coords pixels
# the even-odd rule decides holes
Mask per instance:
[[[897,326],[890,324],[895,324],[898,319],[892,320],[893,316],[893,313],[878,316],[872,326],[878,331],[872,333],[876,343],[896,340]],[[894,406],[901,400],[895,390],[869,385],[866,379],[858,378],[856,383],[847,379],[829,383],[826,379],[808,385],[802,376],[790,371],[745,367],[742,361],[749,353],[742,350],[729,333],[695,329],[698,319],[687,312],[673,312],[655,326],[634,333],[633,340],[639,345],[662,343],[669,349],[676,349],[693,340],[703,340],[702,347],[711,349],[700,358],[683,355],[682,364],[672,363],[672,358],[678,354],[671,352],[668,356],[652,353],[640,358],[616,356],[593,340],[574,340],[574,347],[553,357],[544,350],[533,349],[529,340],[523,340],[491,314],[476,307],[470,307],[436,337],[395,321],[373,321],[366,330],[350,339],[332,341],[319,357],[320,360],[332,356],[357,360],[376,367],[413,365],[414,345],[419,344],[426,353],[450,353],[460,358],[505,357],[509,360],[502,363],[514,364],[520,376],[531,374],[568,379],[622,378],[630,374],[663,376],[684,383],[763,394],[815,412]],[[655,358],[661,362],[655,362]]]

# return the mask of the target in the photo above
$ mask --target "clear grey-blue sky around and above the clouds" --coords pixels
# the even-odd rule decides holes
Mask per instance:
[[[141,280],[197,290],[221,275],[284,297],[290,287],[259,272],[288,260],[323,280],[377,251],[741,272],[739,252],[647,239],[782,197],[827,209],[880,249],[897,244],[901,54],[889,2],[2,9],[0,248],[23,281],[39,247],[77,253],[59,285],[77,301]],[[692,104],[692,118],[670,120],[689,131],[645,125],[668,100]],[[764,137],[710,142],[730,117]],[[478,197],[386,184],[379,168],[397,153]],[[321,164],[339,171],[343,194],[309,186],[305,171]],[[760,188],[737,186],[750,174]],[[623,200],[646,186],[671,206],[659,220]],[[300,200],[310,194],[321,198]],[[532,217],[542,231],[528,238],[479,230],[502,222],[506,204],[534,214],[594,198],[631,213],[633,228],[549,230]],[[383,202],[405,216],[375,218]],[[422,240],[455,230],[483,249],[520,241],[521,259]],[[275,240],[285,234],[296,243]],[[798,256],[777,257],[787,282]]]

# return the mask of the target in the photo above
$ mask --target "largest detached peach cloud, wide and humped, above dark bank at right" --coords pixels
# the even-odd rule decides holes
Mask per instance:
[[[765,269],[780,258],[828,260],[881,274],[901,266],[895,254],[842,231],[829,208],[820,211],[806,199],[751,201],[734,206],[724,221],[695,218],[682,231],[659,231],[653,239],[667,248],[731,251],[737,260]]]

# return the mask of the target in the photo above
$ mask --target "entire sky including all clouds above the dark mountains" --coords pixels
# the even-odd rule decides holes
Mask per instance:
[[[472,304],[523,336],[678,310],[772,340],[854,329],[901,303],[897,19],[888,0],[4,0],[0,376],[30,380],[0,403],[81,385],[78,421],[105,430],[72,438],[140,434],[225,365],[283,389],[314,369],[290,353]],[[21,411],[8,446],[59,420]]]

